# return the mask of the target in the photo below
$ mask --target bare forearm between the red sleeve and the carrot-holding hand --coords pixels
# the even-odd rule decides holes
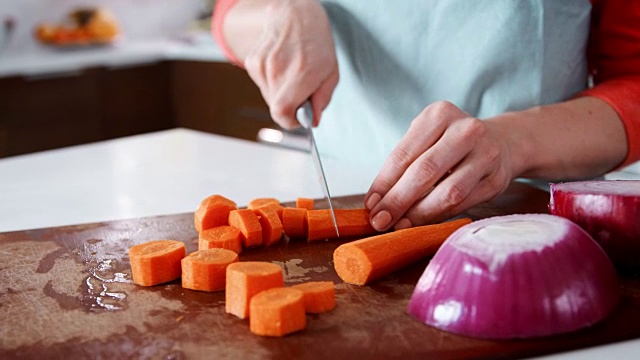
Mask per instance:
[[[627,137],[616,111],[580,97],[488,119],[509,142],[513,175],[549,180],[602,175],[620,165]],[[502,123],[502,124],[501,124]]]

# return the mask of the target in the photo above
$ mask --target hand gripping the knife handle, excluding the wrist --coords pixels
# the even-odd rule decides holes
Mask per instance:
[[[329,18],[315,0],[272,1],[257,46],[244,66],[256,83],[273,120],[285,129],[299,127],[296,110],[311,99],[317,126],[338,84]]]

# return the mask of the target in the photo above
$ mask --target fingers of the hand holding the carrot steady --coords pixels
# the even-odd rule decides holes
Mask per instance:
[[[461,118],[469,120],[458,121]],[[394,225],[467,156],[474,144],[473,121],[479,120],[450,103],[430,105],[414,120],[365,198],[376,230]]]

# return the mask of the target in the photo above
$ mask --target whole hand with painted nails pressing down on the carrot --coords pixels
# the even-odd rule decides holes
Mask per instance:
[[[497,125],[448,102],[427,106],[365,197],[373,227],[443,221],[502,193],[514,171],[509,138]]]

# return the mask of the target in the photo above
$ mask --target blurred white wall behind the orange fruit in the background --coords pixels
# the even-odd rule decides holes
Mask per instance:
[[[125,39],[140,40],[184,31],[205,3],[205,0],[2,0],[0,21],[7,16],[16,20],[9,44],[19,49],[35,46],[32,33],[36,24],[59,22],[75,7],[103,6],[116,16]]]

